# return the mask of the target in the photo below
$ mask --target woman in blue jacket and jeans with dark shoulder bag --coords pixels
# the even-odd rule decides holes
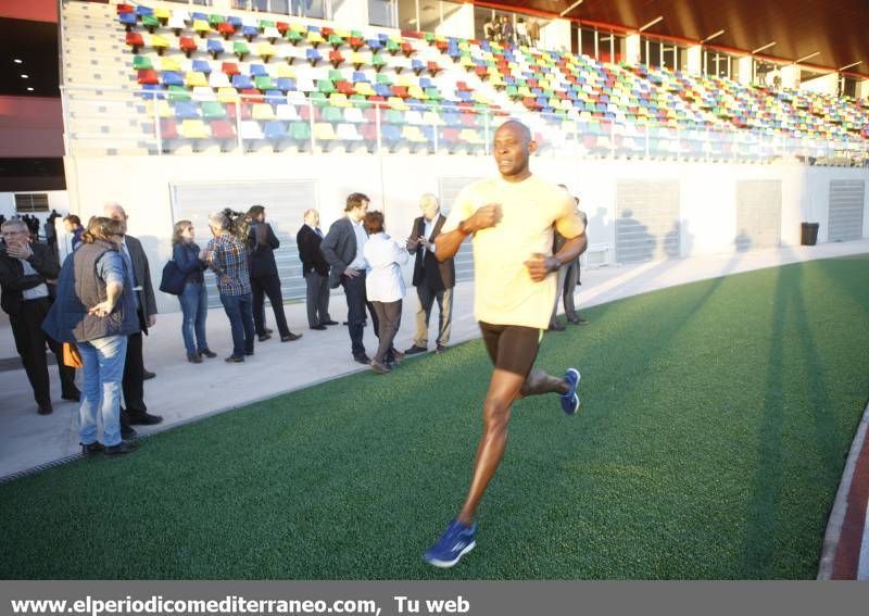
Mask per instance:
[[[187,349],[187,361],[201,364],[202,356],[216,357],[205,339],[205,318],[209,316],[209,291],[203,272],[207,261],[197,246],[196,231],[190,221],[178,221],[172,232],[172,259],[186,276],[184,291],[178,296],[181,304],[181,337]]]

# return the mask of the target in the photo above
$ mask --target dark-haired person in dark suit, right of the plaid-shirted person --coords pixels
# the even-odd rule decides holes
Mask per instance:
[[[284,297],[280,292],[280,277],[278,265],[275,262],[275,249],[280,248],[280,241],[275,237],[272,225],[265,222],[265,208],[253,205],[248,210],[250,229],[248,231],[248,262],[251,273],[251,291],[253,292],[253,325],[260,342],[272,338],[265,327],[265,297],[275,311],[275,322],[278,326],[281,342],[290,342],[302,337],[293,334],[287,326],[287,316],[284,314]]]

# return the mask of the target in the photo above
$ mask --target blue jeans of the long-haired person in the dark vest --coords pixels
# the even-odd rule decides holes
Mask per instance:
[[[106,336],[90,342],[79,342],[84,367],[81,407],[78,410],[81,444],[97,440],[98,418],[102,419],[102,443],[121,442],[121,380],[127,356],[126,336]]]

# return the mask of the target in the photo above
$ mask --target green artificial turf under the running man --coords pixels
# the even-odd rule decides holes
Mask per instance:
[[[2,485],[0,578],[814,578],[869,393],[869,260],[584,314],[538,359],[581,368],[582,411],[514,407],[453,569],[420,555],[467,488],[479,341]]]

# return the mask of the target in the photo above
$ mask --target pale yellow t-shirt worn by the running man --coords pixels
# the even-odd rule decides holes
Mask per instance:
[[[545,329],[555,305],[557,276],[531,280],[525,262],[552,254],[553,228],[566,238],[585,226],[574,200],[561,187],[536,175],[520,183],[501,177],[466,186],[441,232],[458,227],[483,205],[501,205],[501,222],[474,235],[474,289],[477,320]]]

